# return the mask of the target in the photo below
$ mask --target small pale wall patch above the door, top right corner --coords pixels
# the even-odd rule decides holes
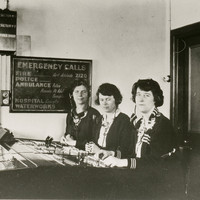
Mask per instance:
[[[171,29],[200,21],[199,0],[171,0]]]

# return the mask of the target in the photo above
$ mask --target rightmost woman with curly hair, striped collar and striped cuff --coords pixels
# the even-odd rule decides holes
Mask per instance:
[[[132,155],[127,159],[108,157],[104,160],[111,167],[136,168],[148,162],[155,163],[171,156],[176,150],[176,136],[169,119],[157,107],[163,105],[163,91],[152,79],[138,80],[132,87],[136,114],[131,117],[135,131],[132,135]],[[156,162],[157,163],[157,162]]]

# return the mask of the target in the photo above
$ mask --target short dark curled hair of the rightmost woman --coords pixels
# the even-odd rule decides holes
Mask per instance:
[[[164,96],[163,91],[160,88],[158,82],[153,79],[139,79],[136,83],[133,84],[132,87],[132,100],[135,102],[137,88],[140,88],[144,91],[151,91],[154,96],[155,106],[159,107],[163,105]]]

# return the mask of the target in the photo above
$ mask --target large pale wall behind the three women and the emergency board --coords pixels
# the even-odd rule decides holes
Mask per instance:
[[[93,60],[93,100],[98,86],[116,84],[120,109],[130,115],[132,84],[157,80],[165,96],[161,111],[169,116],[169,2],[163,0],[10,0],[17,11],[17,34],[31,36],[30,56]],[[93,104],[94,105],[94,104]],[[95,106],[95,105],[94,105]],[[59,139],[66,114],[9,113],[1,123],[17,137]]]

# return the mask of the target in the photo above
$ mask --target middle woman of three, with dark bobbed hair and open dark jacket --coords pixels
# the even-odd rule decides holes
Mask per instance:
[[[86,151],[126,157],[129,154],[132,126],[130,118],[118,108],[122,95],[115,85],[104,83],[98,88],[96,96],[96,103],[103,114],[98,120],[93,143],[86,144]]]

